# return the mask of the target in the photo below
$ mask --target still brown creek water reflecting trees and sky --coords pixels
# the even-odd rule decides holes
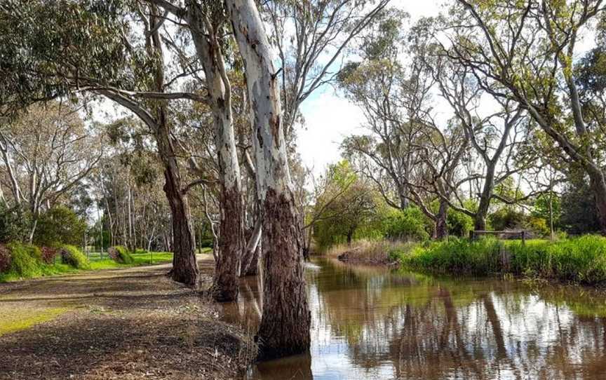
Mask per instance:
[[[311,352],[246,379],[606,379],[606,293],[307,264]],[[251,331],[257,279],[225,318]]]

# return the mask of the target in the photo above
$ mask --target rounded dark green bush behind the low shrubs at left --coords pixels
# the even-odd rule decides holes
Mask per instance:
[[[57,206],[41,215],[34,243],[37,245],[75,245],[82,241],[86,231],[86,222],[66,207]]]

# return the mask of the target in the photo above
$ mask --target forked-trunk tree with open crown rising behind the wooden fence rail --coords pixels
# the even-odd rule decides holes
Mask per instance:
[[[525,149],[530,135],[530,122],[518,104],[492,97],[464,68],[439,63],[434,67],[433,75],[440,95],[454,113],[455,123],[461,126],[465,140],[473,149],[473,154],[466,157],[470,164],[466,175],[450,178],[443,176],[446,186],[434,186],[434,189],[454,210],[472,217],[476,230],[485,230],[492,200],[497,198],[513,204],[530,197],[516,194],[514,198],[505,198],[494,191],[499,184],[519,175],[534,162],[536,156]],[[491,100],[496,104],[491,103]],[[469,184],[469,198],[478,200],[473,208],[466,206],[460,196],[459,189],[465,182]],[[477,186],[477,194],[471,190],[473,184]],[[447,194],[446,189],[450,189]]]

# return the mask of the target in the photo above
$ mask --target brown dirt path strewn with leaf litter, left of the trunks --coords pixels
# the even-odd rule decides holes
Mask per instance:
[[[198,258],[208,287],[212,257]],[[238,376],[250,356],[241,331],[221,323],[208,299],[166,278],[169,267],[0,284],[0,320],[8,320],[0,379]]]

